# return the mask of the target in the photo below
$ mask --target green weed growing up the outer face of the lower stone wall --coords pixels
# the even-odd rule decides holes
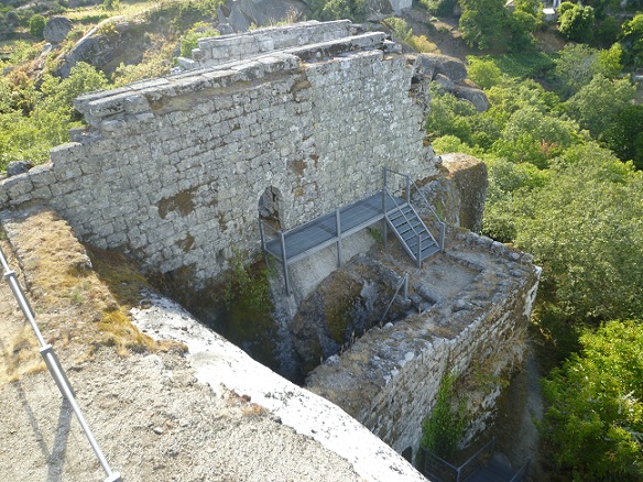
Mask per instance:
[[[459,401],[454,408],[455,373],[445,375],[437,391],[437,399],[422,427],[421,447],[442,459],[449,461],[458,450],[458,443],[465,435],[467,419],[465,402]]]

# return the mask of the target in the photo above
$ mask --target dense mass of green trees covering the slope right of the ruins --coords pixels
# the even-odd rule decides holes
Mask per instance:
[[[490,109],[435,91],[427,121],[436,152],[486,161],[483,233],[543,267],[534,321],[549,363],[569,358],[546,382],[543,435],[574,480],[640,480],[643,465],[643,326],[608,322],[643,316],[643,106],[617,78],[621,53],[566,46],[554,91],[470,59]]]

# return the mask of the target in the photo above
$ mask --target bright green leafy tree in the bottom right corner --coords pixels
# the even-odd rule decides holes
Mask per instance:
[[[543,382],[542,434],[574,480],[643,479],[643,324],[611,321]]]

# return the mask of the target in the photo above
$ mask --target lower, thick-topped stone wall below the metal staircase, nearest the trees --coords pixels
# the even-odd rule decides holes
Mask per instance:
[[[414,457],[422,421],[448,372],[469,380],[499,376],[497,386],[470,397],[468,439],[489,425],[501,379],[522,363],[540,276],[530,255],[472,233],[456,234],[443,256],[473,273],[455,299],[436,300],[421,315],[371,329],[306,381],[308,390],[342,407],[397,452],[412,448]]]

